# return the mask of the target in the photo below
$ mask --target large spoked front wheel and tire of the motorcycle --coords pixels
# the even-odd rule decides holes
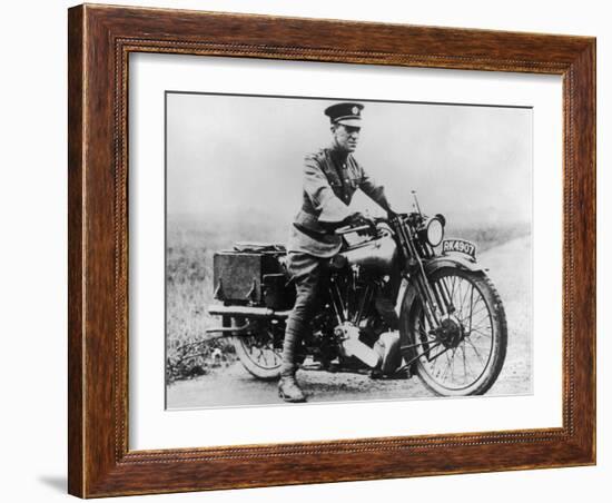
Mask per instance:
[[[500,295],[485,274],[452,267],[435,270],[430,285],[434,292],[446,286],[456,310],[443,315],[450,331],[438,335],[430,332],[418,297],[412,306],[402,306],[401,329],[414,345],[412,358],[418,356],[415,372],[436,395],[482,395],[497,379],[506,355],[507,324]]]

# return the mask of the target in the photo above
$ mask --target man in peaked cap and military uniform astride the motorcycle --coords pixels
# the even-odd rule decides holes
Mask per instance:
[[[342,237],[334,230],[364,219],[359,213],[348,208],[355,190],[362,189],[385,211],[392,213],[383,186],[377,185],[353,157],[359,139],[363,109],[364,106],[356,102],[326,108],[325,115],[332,124],[332,145],[305,159],[302,209],[295,217],[288,244],[287,266],[296,284],[296,302],[287,319],[278,383],[278,395],[286,402],[306,400],[295,378],[295,352],[308,329],[319,286],[328,276],[329,258],[342,246]],[[383,309],[385,313],[381,314],[391,328],[397,329],[393,306],[383,306]]]

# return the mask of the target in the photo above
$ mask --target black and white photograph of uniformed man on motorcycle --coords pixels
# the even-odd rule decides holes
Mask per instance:
[[[168,410],[532,394],[532,108],[165,99]]]

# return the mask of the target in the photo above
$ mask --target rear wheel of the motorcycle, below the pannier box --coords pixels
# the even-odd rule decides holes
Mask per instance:
[[[241,318],[233,318],[233,326],[244,325]],[[257,325],[257,332],[234,336],[231,343],[243,366],[261,381],[274,381],[280,376],[282,348],[275,347],[274,332],[267,323]]]

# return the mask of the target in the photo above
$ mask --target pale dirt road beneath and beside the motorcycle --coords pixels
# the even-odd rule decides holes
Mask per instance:
[[[478,260],[504,302],[509,323],[506,361],[491,395],[531,393],[532,325],[529,239],[519,238],[483,253]],[[398,400],[433,396],[418,377],[374,381],[367,374],[299,371],[299,382],[310,402]],[[258,381],[234,363],[223,369],[167,388],[168,408],[278,404],[275,382]]]

